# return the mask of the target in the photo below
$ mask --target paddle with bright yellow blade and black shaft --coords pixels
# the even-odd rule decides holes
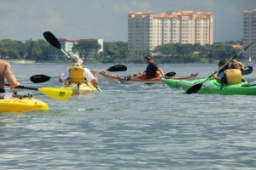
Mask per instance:
[[[5,86],[9,86],[9,84],[5,84]],[[41,94],[48,96],[49,98],[58,100],[68,99],[73,94],[73,91],[68,88],[29,88],[26,86],[17,86],[15,88],[35,90],[40,92]]]

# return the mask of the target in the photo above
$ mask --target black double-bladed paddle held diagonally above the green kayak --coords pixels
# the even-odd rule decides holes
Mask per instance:
[[[242,49],[238,54],[236,54],[236,56],[233,57],[232,59],[236,59],[236,57],[237,57],[238,55],[240,55],[240,54],[243,53],[245,50],[247,50],[247,48],[250,47],[252,44],[253,44],[253,42],[250,43],[249,45],[247,45],[246,48],[243,48],[243,49]],[[221,70],[224,68],[224,66],[225,66],[225,65],[228,65],[229,62],[230,62],[232,59],[229,59],[224,65],[222,65],[220,68],[218,68],[218,71],[221,71]],[[218,72],[218,71],[217,71],[217,72]],[[187,90],[187,94],[195,94],[195,93],[197,93],[197,92],[201,89],[203,83],[207,82],[207,80],[208,80],[209,78],[211,78],[211,77],[212,77],[212,75],[211,75],[210,77],[208,77],[205,81],[203,81],[203,82],[201,82],[201,83],[198,83],[198,84],[195,84],[194,86],[190,87],[190,88]]]

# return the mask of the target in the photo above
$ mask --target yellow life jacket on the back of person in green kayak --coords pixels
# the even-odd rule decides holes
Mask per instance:
[[[228,69],[224,71],[227,84],[237,84],[241,82],[241,71],[239,69]]]

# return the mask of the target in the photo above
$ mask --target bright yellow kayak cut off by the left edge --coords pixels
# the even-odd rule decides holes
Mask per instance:
[[[48,111],[48,105],[32,96],[0,94],[0,112]]]

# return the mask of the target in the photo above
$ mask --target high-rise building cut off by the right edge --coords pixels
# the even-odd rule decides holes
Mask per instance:
[[[245,47],[256,41],[256,9],[243,11],[242,45]],[[256,60],[256,42],[242,54],[248,60]]]

